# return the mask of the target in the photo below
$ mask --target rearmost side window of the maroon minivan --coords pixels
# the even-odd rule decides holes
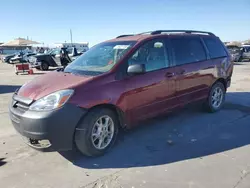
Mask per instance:
[[[203,37],[203,40],[209,51],[210,58],[220,58],[227,56],[224,46],[218,39],[212,37]]]

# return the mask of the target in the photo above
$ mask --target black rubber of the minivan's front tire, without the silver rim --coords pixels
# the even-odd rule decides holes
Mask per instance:
[[[109,116],[114,122],[114,135],[109,143],[109,145],[104,149],[97,149],[92,143],[92,129],[94,124],[101,116]],[[112,146],[114,145],[117,135],[118,135],[118,128],[119,122],[115,115],[115,113],[109,109],[96,109],[92,112],[89,112],[87,116],[85,116],[82,122],[77,126],[80,128],[81,131],[76,131],[75,133],[75,144],[78,150],[81,153],[88,155],[88,156],[100,156],[105,154]]]

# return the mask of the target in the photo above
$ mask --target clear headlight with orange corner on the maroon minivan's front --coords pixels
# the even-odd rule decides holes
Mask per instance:
[[[48,111],[60,108],[69,98],[73,95],[74,90],[66,89],[51,93],[41,99],[38,99],[30,106],[30,110],[35,111]]]

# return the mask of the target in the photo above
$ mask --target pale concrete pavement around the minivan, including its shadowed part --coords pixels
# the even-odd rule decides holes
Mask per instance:
[[[22,142],[8,103],[36,76],[16,76],[11,65],[0,63],[0,187],[250,187],[250,63],[235,65],[220,112],[192,106],[143,122],[99,158],[43,153]]]

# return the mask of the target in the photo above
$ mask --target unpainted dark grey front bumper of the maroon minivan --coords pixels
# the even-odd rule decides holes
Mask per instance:
[[[10,119],[28,145],[57,151],[73,148],[75,127],[86,110],[66,103],[57,110],[37,112],[16,103],[20,102],[13,100],[9,106]]]

